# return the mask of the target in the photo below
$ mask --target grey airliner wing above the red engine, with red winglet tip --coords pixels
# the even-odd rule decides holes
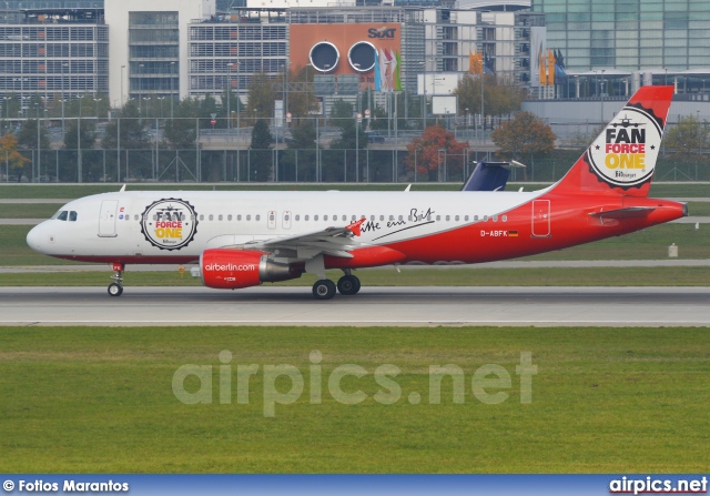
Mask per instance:
[[[318,254],[352,259],[351,250],[362,246],[354,240],[361,234],[361,225],[365,219],[355,221],[343,227],[327,227],[322,231],[297,234],[287,237],[274,237],[263,241],[245,243],[240,247],[245,250],[264,250],[274,252],[276,250],[286,253],[296,252],[298,259],[311,259]]]

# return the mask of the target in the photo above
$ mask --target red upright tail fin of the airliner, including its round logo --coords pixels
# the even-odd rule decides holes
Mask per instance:
[[[673,87],[642,87],[555,186],[556,193],[648,196]]]

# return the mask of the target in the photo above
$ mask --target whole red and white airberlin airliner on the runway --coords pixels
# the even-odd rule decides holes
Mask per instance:
[[[125,265],[197,262],[207,287],[236,290],[313,273],[313,295],[328,300],[359,291],[356,269],[491,262],[628,234],[688,215],[684,203],[648,198],[672,94],[673,87],[639,89],[569,172],[539,191],[163,192],[124,185],[69,202],[33,227],[27,243],[54,257],[111,264],[111,296],[123,293]],[[344,275],[334,283],[327,269]]]

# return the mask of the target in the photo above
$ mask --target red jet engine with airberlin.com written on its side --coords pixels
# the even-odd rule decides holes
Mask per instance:
[[[237,290],[263,282],[301,277],[303,271],[271,261],[263,252],[214,249],[205,250],[200,255],[200,272],[202,283],[207,287]]]

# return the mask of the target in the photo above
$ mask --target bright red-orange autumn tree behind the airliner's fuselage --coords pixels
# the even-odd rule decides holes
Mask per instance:
[[[407,145],[405,163],[409,171],[436,181],[439,166],[448,169],[448,175],[460,173],[464,165],[464,144],[456,141],[454,133],[446,131],[440,125],[430,125],[424,130],[420,138],[415,138]]]

